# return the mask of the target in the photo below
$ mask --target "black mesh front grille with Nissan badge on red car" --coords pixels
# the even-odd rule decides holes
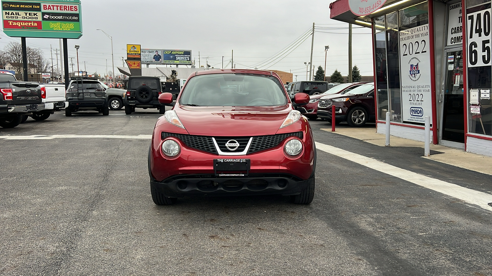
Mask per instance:
[[[251,154],[255,152],[259,152],[262,150],[274,148],[280,144],[287,137],[295,136],[298,138],[304,138],[303,132],[292,132],[292,133],[282,133],[275,135],[263,135],[263,136],[253,136],[251,140],[251,145],[247,150],[246,154]],[[168,133],[162,132],[161,139],[165,139],[168,137],[175,137],[183,141],[183,143],[197,150],[202,150],[210,153],[214,153],[218,155],[218,151],[215,148],[214,140],[209,136],[199,136],[199,135],[188,135],[188,134],[176,134],[176,133]],[[214,137],[217,145],[222,152],[233,153],[233,152],[242,152],[246,150],[247,143],[251,137]],[[236,140],[239,143],[239,148],[231,151],[227,149],[225,143],[229,140]]]

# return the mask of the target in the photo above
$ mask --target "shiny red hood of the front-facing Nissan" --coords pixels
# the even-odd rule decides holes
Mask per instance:
[[[292,106],[176,106],[174,110],[190,135],[259,136],[276,134]]]

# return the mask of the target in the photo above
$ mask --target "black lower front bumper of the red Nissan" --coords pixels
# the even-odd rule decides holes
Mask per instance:
[[[179,175],[151,183],[167,197],[182,196],[231,196],[282,194],[295,195],[306,190],[309,180],[301,180],[289,174],[250,174],[247,177],[223,178],[209,174]]]

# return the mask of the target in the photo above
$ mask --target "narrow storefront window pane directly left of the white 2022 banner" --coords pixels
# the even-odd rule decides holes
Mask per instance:
[[[388,90],[391,120],[401,122],[400,44],[398,36],[398,12],[386,15],[386,55],[388,66]]]

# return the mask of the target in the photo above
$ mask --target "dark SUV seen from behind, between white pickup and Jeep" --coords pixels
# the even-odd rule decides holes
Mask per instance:
[[[106,88],[97,78],[72,77],[66,90],[65,116],[80,110],[97,110],[103,115],[109,115],[109,101]]]

